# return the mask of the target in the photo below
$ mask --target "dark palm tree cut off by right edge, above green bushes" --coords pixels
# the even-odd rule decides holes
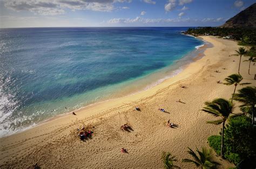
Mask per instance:
[[[252,110],[252,125],[254,124],[254,111],[256,104],[256,87],[247,86],[238,90],[233,99],[243,103],[240,107],[250,107]]]

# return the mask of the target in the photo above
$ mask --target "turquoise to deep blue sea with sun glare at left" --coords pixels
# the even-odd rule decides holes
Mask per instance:
[[[0,137],[179,73],[204,43],[187,29],[0,29]]]

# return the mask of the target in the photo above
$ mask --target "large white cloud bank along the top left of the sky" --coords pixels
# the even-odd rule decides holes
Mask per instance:
[[[130,3],[131,0],[9,0],[4,6],[14,11],[30,11],[39,15],[59,15],[65,9],[112,11],[113,3]]]

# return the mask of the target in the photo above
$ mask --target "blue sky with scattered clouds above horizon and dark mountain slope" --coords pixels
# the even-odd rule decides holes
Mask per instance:
[[[219,26],[255,0],[0,0],[0,28]]]

